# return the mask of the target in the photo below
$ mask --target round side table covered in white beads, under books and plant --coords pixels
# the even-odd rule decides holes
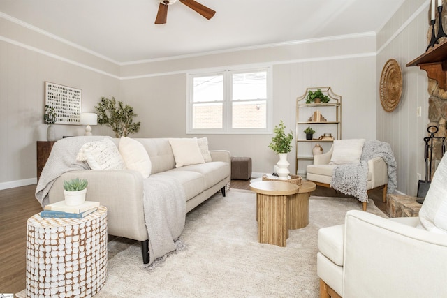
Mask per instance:
[[[27,297],[92,297],[107,275],[107,208],[27,221]]]

